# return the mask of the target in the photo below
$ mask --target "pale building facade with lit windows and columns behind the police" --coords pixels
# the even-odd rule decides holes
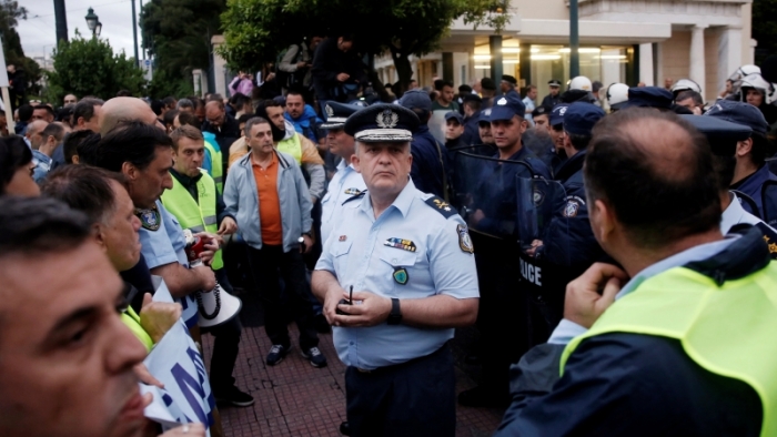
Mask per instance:
[[[688,78],[706,100],[739,67],[753,63],[751,0],[579,0],[581,74],[614,82],[663,85]],[[511,74],[522,87],[569,78],[569,8],[565,0],[511,0],[509,23],[493,29],[457,20],[438,52],[411,58],[413,78],[472,84]],[[381,80],[398,80],[390,55],[375,59]]]

